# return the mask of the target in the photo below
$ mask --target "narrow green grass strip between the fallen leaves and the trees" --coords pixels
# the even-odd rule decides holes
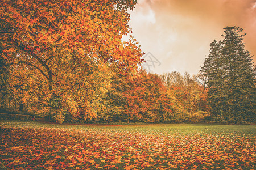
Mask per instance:
[[[242,133],[248,135],[256,134],[256,125],[203,125],[203,124],[134,124],[134,125],[68,125],[52,124],[32,121],[0,121],[0,126],[15,128],[58,128],[73,130],[129,130],[154,133],[181,133],[181,134],[222,134]]]

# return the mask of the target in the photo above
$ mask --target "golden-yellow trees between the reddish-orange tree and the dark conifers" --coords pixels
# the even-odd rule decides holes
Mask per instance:
[[[209,116],[207,93],[197,81],[197,76],[188,73],[181,75],[177,71],[160,75],[167,87],[167,96],[171,101],[173,122],[203,122]]]

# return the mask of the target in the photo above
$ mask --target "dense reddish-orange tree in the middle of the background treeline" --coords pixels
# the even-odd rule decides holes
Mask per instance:
[[[140,70],[139,76],[129,80],[123,92],[126,121],[160,122],[172,116],[172,103],[166,97],[166,88],[157,74]]]

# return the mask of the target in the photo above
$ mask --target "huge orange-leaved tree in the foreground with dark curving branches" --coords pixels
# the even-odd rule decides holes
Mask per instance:
[[[133,75],[141,50],[122,42],[136,1],[24,1],[0,5],[1,75],[34,111],[96,117],[111,72]],[[7,79],[6,79],[7,80]]]

